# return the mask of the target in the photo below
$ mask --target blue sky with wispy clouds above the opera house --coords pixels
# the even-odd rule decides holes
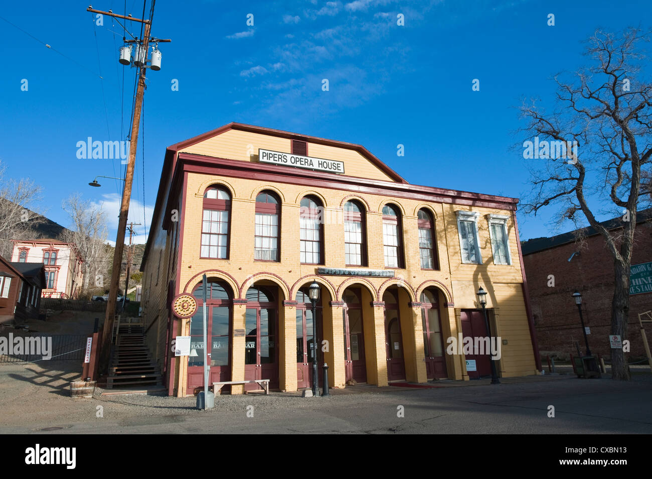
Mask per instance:
[[[122,27],[106,16],[95,25],[87,5],[0,8],[1,17],[52,46],[0,19],[0,160],[7,176],[29,176],[44,188],[41,211],[64,226],[61,200],[70,193],[103,204],[115,240],[119,182],[87,183],[122,176],[124,166],[78,159],[76,144],[89,136],[125,139],[134,69],[117,62]],[[125,12],[124,1],[93,7]],[[126,7],[142,15],[141,0]],[[550,13],[554,27],[546,23]],[[583,42],[596,28],[649,29],[651,14],[649,0],[158,0],[153,35],[173,41],[160,45],[162,70],[147,72],[130,221],[149,227],[165,147],[230,121],[362,144],[411,183],[520,197],[528,172],[512,146],[524,140],[514,133],[524,126],[522,98],[552,105],[550,77],[587,65]],[[480,91],[471,89],[474,78]],[[572,229],[557,229],[551,213],[519,213],[521,238]],[[144,242],[145,229],[137,230]]]

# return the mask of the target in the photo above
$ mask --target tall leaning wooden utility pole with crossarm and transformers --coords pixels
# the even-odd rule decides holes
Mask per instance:
[[[130,20],[132,22],[140,22],[145,25],[143,38],[136,40],[137,47],[140,46],[142,50],[138,50],[136,57],[138,63],[138,86],[136,88],[136,102],[134,104],[134,117],[131,125],[129,160],[126,166],[125,187],[123,189],[122,202],[120,205],[120,217],[118,221],[117,237],[115,238],[115,250],[113,251],[113,270],[111,270],[111,283],[109,286],[109,298],[106,303],[106,315],[104,317],[104,326],[102,327],[102,343],[100,345],[100,358],[99,370],[100,374],[108,372],[109,358],[111,355],[111,343],[113,343],[113,321],[115,320],[115,303],[117,302],[117,294],[120,283],[120,271],[122,267],[123,249],[125,248],[125,232],[126,221],[129,213],[129,202],[131,200],[131,189],[134,182],[134,164],[136,163],[136,147],[138,146],[138,129],[140,127],[140,114],[143,106],[143,93],[145,91],[145,71],[147,69],[147,52],[149,48],[149,40],[152,27],[152,18],[154,15],[154,5],[156,0],[152,0],[151,10],[149,12],[149,20],[134,18],[132,16],[118,15],[111,11],[104,12],[102,10],[95,10],[89,6],[86,8],[87,12],[108,15],[113,18],[121,18],[123,20]],[[156,41],[156,40],[155,40]],[[158,40],[164,41],[164,40]],[[167,40],[170,41],[170,40]],[[144,52],[141,53],[141,52]],[[126,62],[129,63],[128,61]],[[136,61],[134,61],[136,64]],[[159,67],[160,68],[160,67]],[[126,293],[126,291],[125,291]]]

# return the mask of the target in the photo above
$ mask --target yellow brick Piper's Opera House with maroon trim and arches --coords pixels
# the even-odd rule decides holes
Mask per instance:
[[[168,147],[141,305],[170,394],[203,385],[204,274],[209,382],[308,388],[315,342],[335,388],[486,375],[488,356],[447,351],[488,335],[480,286],[499,375],[536,373],[516,203],[408,184],[359,145],[239,123]],[[194,317],[173,314],[179,294],[195,296]],[[175,356],[177,336],[198,356]]]

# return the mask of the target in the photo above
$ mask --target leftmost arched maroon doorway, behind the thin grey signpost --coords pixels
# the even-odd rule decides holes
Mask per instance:
[[[203,386],[203,286],[195,286],[192,295],[197,301],[197,312],[190,320],[190,349],[197,356],[188,356],[188,390],[192,394]],[[210,364],[209,384],[231,379],[231,329],[233,292],[228,283],[217,278],[207,279],[207,356]]]

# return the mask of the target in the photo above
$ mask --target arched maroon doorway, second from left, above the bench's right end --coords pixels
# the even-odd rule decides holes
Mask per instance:
[[[269,379],[278,388],[278,295],[274,286],[253,285],[246,292],[244,380]],[[244,390],[259,390],[245,384]]]

